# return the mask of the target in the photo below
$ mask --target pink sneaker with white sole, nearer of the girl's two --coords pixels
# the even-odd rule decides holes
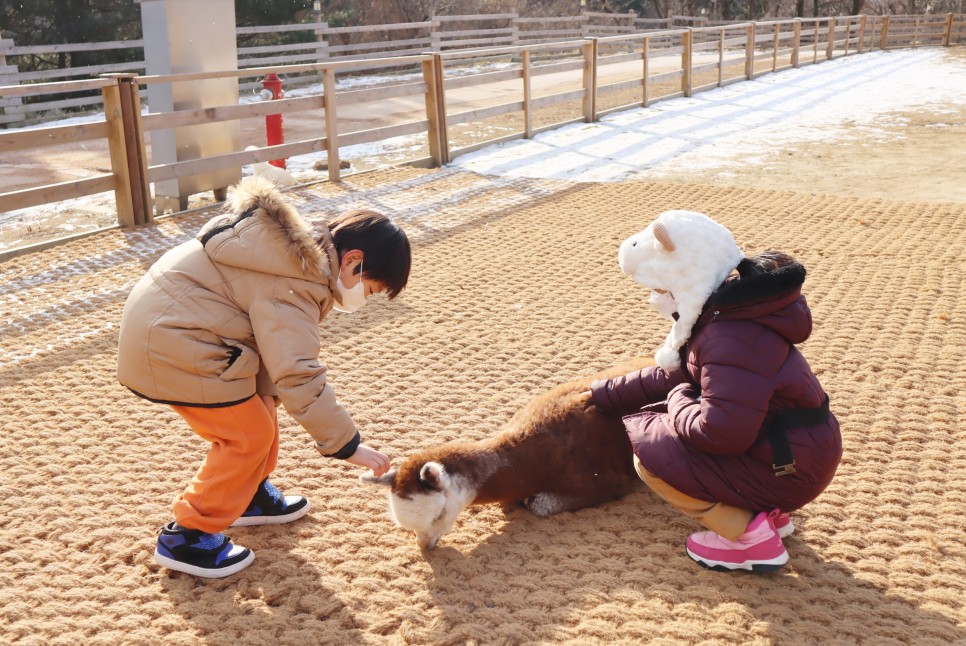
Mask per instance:
[[[788,563],[788,552],[775,529],[778,510],[761,512],[751,519],[738,540],[729,541],[714,532],[688,536],[688,556],[698,565],[719,572],[751,570],[773,572]]]

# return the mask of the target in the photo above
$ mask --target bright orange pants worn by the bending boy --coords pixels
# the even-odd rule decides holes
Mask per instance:
[[[211,442],[191,484],[174,503],[174,519],[209,534],[224,531],[248,509],[278,460],[278,418],[261,397],[223,408],[172,406]]]

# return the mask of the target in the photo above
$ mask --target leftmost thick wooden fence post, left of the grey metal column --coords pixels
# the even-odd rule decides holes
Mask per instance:
[[[114,80],[113,85],[102,89],[102,94],[117,221],[122,227],[147,224],[152,216],[138,84],[133,74],[104,76]]]

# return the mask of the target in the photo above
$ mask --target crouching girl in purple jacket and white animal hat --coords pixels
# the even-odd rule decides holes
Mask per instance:
[[[594,404],[625,416],[644,482],[711,530],[688,537],[688,556],[713,570],[781,568],[788,512],[828,486],[842,456],[828,396],[795,347],[812,331],[805,268],[779,252],[745,258],[731,232],[690,211],[662,213],[618,263],[674,324],[657,366],[594,382]]]

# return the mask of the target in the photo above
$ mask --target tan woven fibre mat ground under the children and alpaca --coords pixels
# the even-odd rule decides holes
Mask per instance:
[[[574,184],[389,169],[291,193],[303,213],[392,213],[410,287],[323,323],[322,358],[363,437],[410,451],[496,432],[530,396],[650,354],[666,322],[619,242],[688,208],[746,253],[808,269],[803,351],[842,422],[828,490],[790,564],[725,575],[643,485],[540,519],[471,508],[434,552],[381,490],[282,414],[273,481],[313,511],[238,528],[224,580],[161,570],[157,528],[206,444],[114,377],[125,297],[212,213],[0,265],[0,642],[23,644],[966,643],[966,206],[679,184]]]

